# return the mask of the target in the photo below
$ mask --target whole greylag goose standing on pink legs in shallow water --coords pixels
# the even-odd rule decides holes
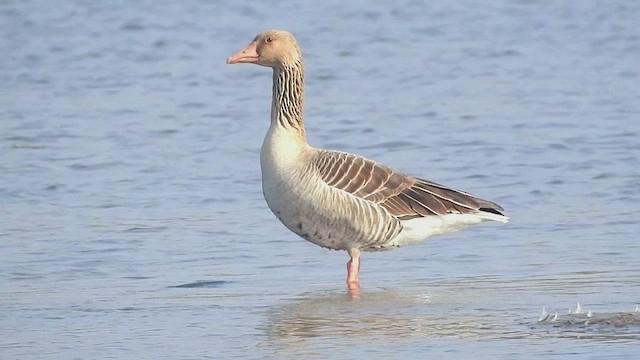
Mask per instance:
[[[273,68],[271,125],[260,152],[264,198],[289,230],[349,253],[349,290],[360,288],[363,251],[389,250],[483,221],[508,221],[491,201],[307,144],[302,54],[290,33],[259,34],[227,63]]]

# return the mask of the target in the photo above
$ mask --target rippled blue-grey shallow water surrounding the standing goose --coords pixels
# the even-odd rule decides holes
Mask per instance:
[[[0,354],[631,358],[640,353],[640,6],[0,3]],[[504,206],[365,254],[262,200],[271,74],[298,37],[309,141]],[[566,315],[581,302],[596,319]],[[538,322],[542,306],[558,322]]]

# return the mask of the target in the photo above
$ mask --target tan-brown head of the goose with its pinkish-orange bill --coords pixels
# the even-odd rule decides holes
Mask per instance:
[[[275,69],[302,63],[302,55],[293,35],[286,31],[269,30],[257,35],[247,47],[227,59],[227,64],[241,63]]]

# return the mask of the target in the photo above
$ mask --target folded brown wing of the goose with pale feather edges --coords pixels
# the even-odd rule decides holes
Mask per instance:
[[[314,166],[329,186],[378,204],[399,220],[469,213],[507,220],[496,203],[405,175],[361,156],[321,150]]]

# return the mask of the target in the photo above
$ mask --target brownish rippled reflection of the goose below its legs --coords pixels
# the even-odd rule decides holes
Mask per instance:
[[[490,331],[485,319],[462,313],[455,294],[429,292],[321,291],[270,312],[264,332],[269,346],[301,349],[317,338],[345,346],[424,337],[477,337]],[[317,345],[317,344],[316,344]]]

